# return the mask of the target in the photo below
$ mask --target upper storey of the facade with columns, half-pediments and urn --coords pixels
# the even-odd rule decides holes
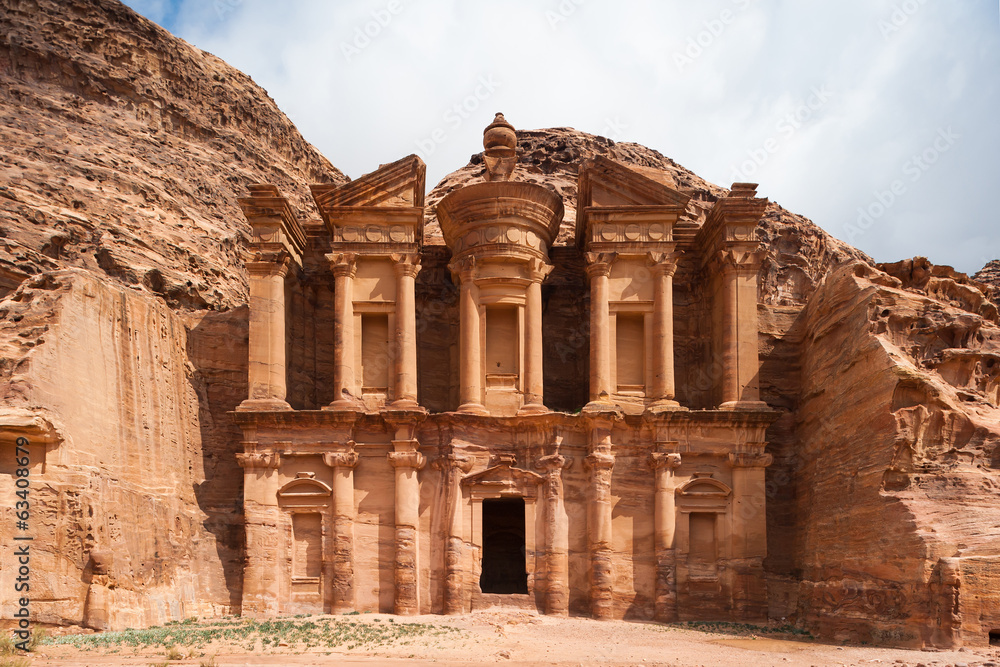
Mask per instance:
[[[416,156],[313,186],[322,224],[302,224],[275,187],[250,188],[250,391],[239,410],[765,407],[756,227],[767,200],[753,184],[734,183],[701,223],[688,194],[586,160],[575,244],[554,246],[564,202],[513,180],[517,137],[501,114],[484,149],[483,180],[437,205],[446,248],[424,245]]]

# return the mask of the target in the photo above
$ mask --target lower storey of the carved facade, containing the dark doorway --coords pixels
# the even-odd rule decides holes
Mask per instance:
[[[243,613],[763,620],[769,412],[237,412]]]

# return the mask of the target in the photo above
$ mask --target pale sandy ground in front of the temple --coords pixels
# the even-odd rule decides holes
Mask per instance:
[[[311,617],[344,622],[347,617]],[[81,649],[43,645],[33,665],[892,665],[911,667],[1000,667],[1000,649],[920,651],[836,646],[811,640],[776,639],[752,633],[701,632],[678,626],[585,618],[552,618],[530,612],[487,610],[459,617],[351,617],[356,627],[425,623],[432,630],[378,646],[263,646],[257,640],[193,649],[183,660],[166,660],[162,647]],[[301,620],[301,619],[296,619]],[[379,629],[379,628],[375,628]],[[251,642],[252,642],[251,638]],[[178,649],[192,649],[181,644]],[[210,659],[214,657],[214,663]]]

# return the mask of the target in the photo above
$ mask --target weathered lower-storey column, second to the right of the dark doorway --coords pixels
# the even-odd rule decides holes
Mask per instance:
[[[614,613],[614,567],[612,563],[611,429],[598,435],[599,446],[584,459],[590,470],[590,506],[587,521],[590,543],[590,609],[594,618],[605,620]]]

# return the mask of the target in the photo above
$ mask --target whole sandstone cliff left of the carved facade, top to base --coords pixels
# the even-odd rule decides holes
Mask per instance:
[[[248,76],[112,0],[0,2],[0,145],[0,562],[25,435],[39,621],[238,611],[235,200],[267,181],[301,209],[345,177]]]

